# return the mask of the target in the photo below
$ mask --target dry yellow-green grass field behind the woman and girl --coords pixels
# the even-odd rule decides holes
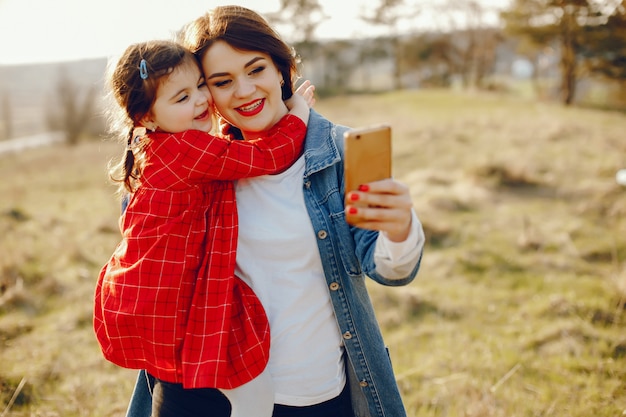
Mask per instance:
[[[424,224],[418,279],[370,287],[409,416],[626,413],[626,115],[449,91],[316,108],[393,126]],[[91,328],[120,151],[0,155],[0,416],[124,415],[136,373]]]

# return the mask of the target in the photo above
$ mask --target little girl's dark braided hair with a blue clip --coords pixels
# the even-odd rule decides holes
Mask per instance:
[[[109,76],[110,94],[122,110],[114,124],[126,145],[122,160],[111,170],[111,178],[123,189],[134,192],[141,176],[144,137],[134,133],[141,119],[150,113],[161,82],[180,65],[197,66],[196,57],[173,41],[136,43],[124,51]]]

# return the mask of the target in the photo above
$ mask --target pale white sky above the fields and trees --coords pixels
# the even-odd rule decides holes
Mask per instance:
[[[119,55],[131,43],[170,38],[212,7],[233,3],[263,14],[276,12],[280,0],[0,0],[0,65]],[[373,34],[359,14],[378,0],[319,3],[329,18],[318,27],[318,38]]]

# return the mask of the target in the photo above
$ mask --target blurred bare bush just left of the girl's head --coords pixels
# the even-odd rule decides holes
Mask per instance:
[[[83,100],[79,104],[81,95]],[[76,145],[93,115],[95,98],[95,86],[91,85],[84,94],[81,94],[68,69],[65,66],[61,67],[55,95],[58,103],[48,107],[48,127],[62,131],[68,145]]]

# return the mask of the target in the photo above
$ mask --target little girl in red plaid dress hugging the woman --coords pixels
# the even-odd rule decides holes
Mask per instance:
[[[291,113],[267,137],[229,141],[206,133],[211,96],[198,61],[175,42],[131,45],[110,83],[128,122],[118,180],[130,200],[122,241],[95,291],[102,352],[175,388],[153,405],[153,416],[192,402],[199,388],[220,388],[233,416],[270,416],[267,317],[234,275],[233,180],[278,173],[300,156],[312,87],[302,91],[306,98],[294,95]],[[237,111],[254,115],[264,105],[260,99]]]

